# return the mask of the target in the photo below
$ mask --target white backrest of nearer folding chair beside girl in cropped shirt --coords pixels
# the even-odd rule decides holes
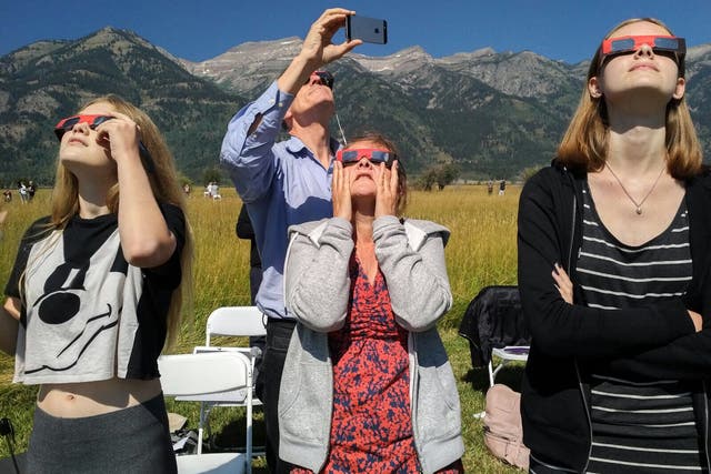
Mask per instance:
[[[251,384],[251,362],[239,352],[174,354],[158,357],[163,395],[208,395]]]

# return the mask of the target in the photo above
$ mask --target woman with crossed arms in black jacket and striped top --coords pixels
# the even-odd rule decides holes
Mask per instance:
[[[711,178],[684,101],[684,54],[658,20],[615,27],[557,160],[521,194],[533,473],[711,464]]]

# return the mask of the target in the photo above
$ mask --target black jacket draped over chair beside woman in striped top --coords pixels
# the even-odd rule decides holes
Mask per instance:
[[[470,342],[474,367],[489,364],[491,350],[507,345],[529,345],[518,286],[485,286],[469,303],[459,334]]]

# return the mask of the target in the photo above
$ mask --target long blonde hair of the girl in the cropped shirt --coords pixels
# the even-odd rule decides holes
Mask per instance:
[[[181,284],[173,291],[170,307],[168,310],[168,342],[172,345],[180,332],[181,313],[184,311],[192,314],[192,256],[194,241],[192,229],[188,222],[188,209],[186,195],[180,188],[176,172],[176,163],[158,127],[143,111],[127,102],[118,95],[109,94],[91,100],[80,110],[96,103],[107,103],[117,112],[131,118],[141,130],[141,141],[150,152],[153,161],[153,169],[148,172],[151,190],[159,203],[170,203],[180,208],[186,218],[186,242],[180,258],[182,269]],[[107,205],[109,211],[118,213],[120,190],[118,182],[109,189]],[[72,215],[79,212],[79,184],[74,177],[61,162],[57,163],[57,179],[52,190],[52,213],[50,218],[50,229],[63,230]]]

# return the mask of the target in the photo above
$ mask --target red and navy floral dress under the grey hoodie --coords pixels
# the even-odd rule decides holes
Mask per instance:
[[[351,258],[343,329],[329,334],[333,360],[331,441],[322,473],[418,473],[412,436],[408,332],[397,324],[380,270],[368,281]],[[458,461],[440,473],[463,472]],[[311,473],[294,468],[292,474]]]

